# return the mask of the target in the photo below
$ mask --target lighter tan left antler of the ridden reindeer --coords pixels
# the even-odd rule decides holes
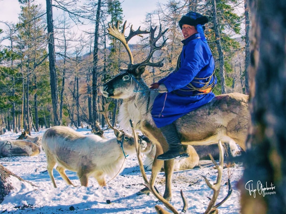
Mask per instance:
[[[108,23],[107,31],[108,31],[108,34],[110,36],[113,36],[115,39],[118,39],[124,45],[124,47],[128,53],[128,56],[129,56],[130,64],[134,64],[133,55],[132,55],[132,52],[128,46],[128,41],[136,35],[146,34],[146,33],[150,33],[150,32],[149,31],[142,31],[142,30],[140,30],[140,27],[138,28],[137,31],[134,31],[132,29],[132,25],[131,25],[129,36],[125,37],[124,33],[125,33],[125,29],[126,29],[126,22],[127,21],[124,22],[121,32],[119,31],[119,21],[117,21],[116,26],[114,26],[113,23],[112,23],[112,26],[110,25],[110,23]]]

